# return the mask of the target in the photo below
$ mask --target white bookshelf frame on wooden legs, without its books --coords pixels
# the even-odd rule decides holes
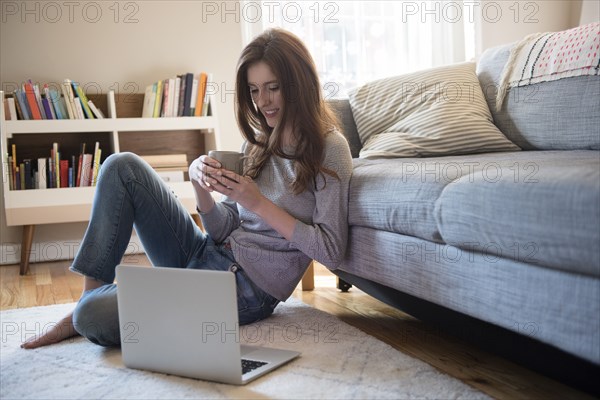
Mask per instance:
[[[4,104],[4,93],[0,91],[0,99]],[[211,99],[212,100],[212,99]],[[214,104],[214,103],[213,103]],[[2,156],[2,185],[4,192],[4,216],[8,226],[24,226],[21,243],[21,273],[27,271],[29,250],[33,239],[35,225],[66,222],[83,222],[89,219],[94,187],[73,187],[53,189],[10,190],[6,155],[10,152],[9,140],[13,135],[27,134],[74,134],[84,136],[94,132],[108,133],[110,149],[102,149],[103,154],[119,153],[120,138],[127,132],[144,132],[148,140],[160,140],[159,133],[173,131],[212,131],[217,137],[218,122],[214,115],[207,117],[173,117],[173,118],[118,118],[115,106],[115,95],[107,94],[108,117],[94,120],[6,120],[4,107],[0,107],[0,136]],[[155,134],[157,134],[155,136]],[[209,135],[210,136],[210,135]],[[82,140],[85,141],[85,140]],[[205,140],[205,151],[214,148],[214,140]],[[165,146],[168,146],[166,143]],[[19,148],[17,148],[18,156]],[[135,152],[135,151],[134,151]],[[168,184],[177,198],[190,213],[195,213],[195,197],[190,182]]]

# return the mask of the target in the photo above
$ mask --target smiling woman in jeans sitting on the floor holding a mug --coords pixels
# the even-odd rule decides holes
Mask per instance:
[[[314,62],[297,37],[272,29],[243,50],[236,113],[246,139],[244,176],[205,155],[189,168],[207,234],[139,157],[107,158],[71,266],[84,275],[81,299],[60,323],[22,347],[76,334],[103,346],[120,344],[113,281],[133,226],[153,265],[235,273],[240,324],[271,315],[311,260],[336,267],[346,249],[352,161],[324,103]],[[212,192],[223,200],[216,203]]]

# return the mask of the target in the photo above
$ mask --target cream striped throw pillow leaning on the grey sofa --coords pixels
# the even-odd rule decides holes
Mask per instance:
[[[475,63],[377,80],[349,100],[361,158],[520,150],[494,125]]]

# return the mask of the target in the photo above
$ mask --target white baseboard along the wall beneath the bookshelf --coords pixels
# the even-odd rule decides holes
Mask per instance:
[[[81,240],[58,240],[52,242],[33,242],[29,262],[52,262],[72,260]],[[144,247],[139,237],[133,235],[125,250],[125,254],[139,254],[144,252]],[[21,243],[0,244],[0,265],[19,264],[21,262]]]

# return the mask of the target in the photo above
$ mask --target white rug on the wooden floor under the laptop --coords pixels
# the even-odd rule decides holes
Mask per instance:
[[[82,338],[23,350],[24,338],[58,321],[73,304],[0,313],[1,399],[487,398],[474,388],[298,300],[240,332],[244,343],[302,352],[251,382],[230,386],[127,369],[119,349]]]

